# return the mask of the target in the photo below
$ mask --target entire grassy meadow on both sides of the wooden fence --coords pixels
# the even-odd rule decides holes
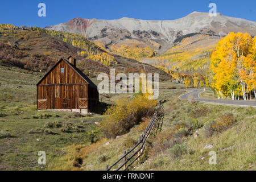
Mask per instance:
[[[101,170],[137,142],[144,123],[112,140],[102,138],[97,129],[95,122],[102,121],[104,109],[121,97],[118,94],[101,95],[104,104],[98,114],[36,111],[35,84],[41,76],[24,69],[0,67],[1,170]],[[159,100],[167,98],[162,131],[151,136],[141,162],[130,169],[255,170],[256,109],[179,100],[177,97],[183,93],[160,90]],[[202,94],[212,98],[208,90]],[[229,117],[223,119],[223,115]],[[230,118],[234,121],[229,123]],[[210,134],[206,126],[213,122],[217,124]],[[213,148],[204,149],[207,144],[213,144]],[[216,151],[216,165],[208,163],[211,150]],[[38,164],[39,151],[46,151],[46,166]],[[77,156],[82,159],[79,167],[74,166]]]

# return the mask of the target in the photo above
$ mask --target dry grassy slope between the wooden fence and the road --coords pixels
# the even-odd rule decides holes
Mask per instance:
[[[172,104],[177,109],[169,111]],[[149,158],[136,170],[250,170],[256,156],[256,109],[170,100],[164,104],[163,131],[152,142]],[[192,111],[207,109],[200,117]],[[196,112],[197,113],[197,112]],[[212,135],[204,127],[214,121]],[[204,127],[202,127],[204,124]],[[187,133],[187,129],[192,132]],[[197,130],[197,137],[194,137]],[[185,134],[188,134],[185,136]],[[205,149],[207,144],[213,148]],[[209,151],[216,151],[217,164],[210,165]]]

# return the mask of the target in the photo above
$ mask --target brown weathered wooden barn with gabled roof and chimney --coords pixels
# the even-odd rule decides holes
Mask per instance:
[[[61,58],[36,84],[38,110],[87,114],[98,104],[97,86],[76,68],[76,59]]]

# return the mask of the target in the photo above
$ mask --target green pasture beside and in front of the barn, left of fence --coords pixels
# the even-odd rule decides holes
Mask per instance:
[[[0,130],[10,134],[6,138],[0,135],[0,169],[44,169],[37,162],[39,151],[46,151],[49,162],[63,155],[65,146],[90,144],[89,133],[96,130],[94,122],[102,119],[98,114],[36,111],[35,84],[40,76],[24,69],[0,67]],[[81,131],[64,133],[60,128],[45,127],[47,122],[72,123]]]

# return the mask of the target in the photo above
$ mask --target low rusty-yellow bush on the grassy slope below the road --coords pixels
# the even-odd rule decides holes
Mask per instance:
[[[226,129],[231,127],[234,122],[236,122],[236,118],[233,114],[221,115],[218,121],[209,121],[204,124],[204,135],[206,137],[211,137],[214,133],[220,133],[222,131],[225,131]]]

